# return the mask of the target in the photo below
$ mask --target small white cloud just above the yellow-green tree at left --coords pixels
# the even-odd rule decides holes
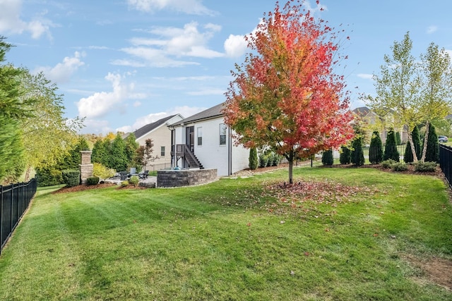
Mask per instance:
[[[57,63],[54,67],[39,67],[35,70],[43,72],[49,80],[57,83],[68,82],[71,75],[76,72],[78,67],[85,65],[81,59],[85,56],[84,53],[76,51],[72,57],[66,56],[62,63]]]

